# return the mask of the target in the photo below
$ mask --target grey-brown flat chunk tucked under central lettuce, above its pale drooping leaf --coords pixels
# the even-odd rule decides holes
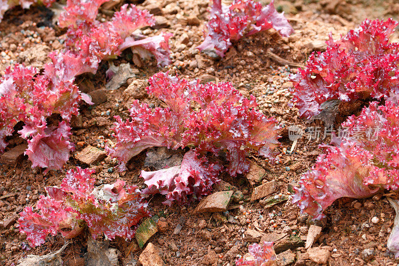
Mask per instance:
[[[144,166],[161,170],[168,167],[181,165],[183,150],[172,150],[166,147],[150,148],[147,150]]]

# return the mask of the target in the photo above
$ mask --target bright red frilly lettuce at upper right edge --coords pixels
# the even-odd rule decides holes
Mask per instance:
[[[399,44],[390,43],[398,22],[366,19],[359,28],[334,41],[325,52],[312,53],[306,67],[292,77],[293,102],[299,114],[311,118],[322,104],[336,99],[395,99],[399,93]]]

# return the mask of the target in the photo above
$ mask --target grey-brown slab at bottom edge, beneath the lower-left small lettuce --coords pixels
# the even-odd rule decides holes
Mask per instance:
[[[109,242],[100,242],[90,239],[87,242],[87,253],[85,254],[85,265],[89,266],[119,266],[118,256],[120,251],[108,248]]]

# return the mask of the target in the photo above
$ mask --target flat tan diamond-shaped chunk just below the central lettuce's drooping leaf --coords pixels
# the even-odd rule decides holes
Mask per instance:
[[[194,213],[225,212],[230,204],[233,191],[219,191],[213,193],[200,201]]]

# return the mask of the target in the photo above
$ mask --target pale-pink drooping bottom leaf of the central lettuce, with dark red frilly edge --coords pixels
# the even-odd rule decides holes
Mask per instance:
[[[140,176],[148,186],[143,194],[165,195],[166,201],[163,203],[169,206],[175,201],[188,202],[190,195],[196,199],[209,195],[212,185],[219,182],[218,175],[222,166],[199,156],[190,150],[184,155],[180,166],[152,172],[142,171]]]

